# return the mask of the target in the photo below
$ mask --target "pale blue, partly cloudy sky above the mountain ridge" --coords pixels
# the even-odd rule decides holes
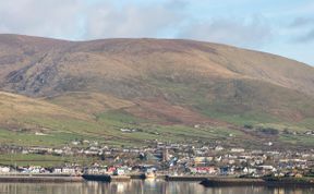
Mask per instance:
[[[314,65],[314,1],[1,0],[0,34],[195,39]]]

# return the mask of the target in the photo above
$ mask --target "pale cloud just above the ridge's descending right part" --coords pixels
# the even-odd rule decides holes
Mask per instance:
[[[249,21],[212,19],[189,24],[179,36],[241,47],[259,47],[271,38],[271,27],[259,17]]]

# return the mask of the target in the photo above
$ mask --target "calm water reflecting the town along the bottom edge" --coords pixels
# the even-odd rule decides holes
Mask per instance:
[[[314,189],[235,186],[206,189],[197,182],[131,181],[129,183],[0,183],[0,194],[313,194]]]

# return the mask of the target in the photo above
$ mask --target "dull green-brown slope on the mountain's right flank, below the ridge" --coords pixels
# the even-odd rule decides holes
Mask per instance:
[[[173,104],[237,125],[290,123],[309,129],[313,120],[313,97],[258,80],[150,83]]]

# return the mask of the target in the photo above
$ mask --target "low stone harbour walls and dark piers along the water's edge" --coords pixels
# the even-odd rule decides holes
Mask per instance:
[[[130,175],[95,175],[97,179],[84,179],[84,175],[70,174],[0,174],[0,183],[71,183],[99,181],[99,177],[106,177],[101,182],[129,182],[131,180],[144,180],[141,174]],[[128,179],[126,179],[128,178]],[[102,178],[100,178],[102,179]],[[110,180],[110,181],[107,181]],[[156,177],[157,180],[167,182],[198,182],[205,187],[215,186],[310,186],[314,187],[314,178],[234,178],[234,177],[209,177],[209,175],[162,175]]]

